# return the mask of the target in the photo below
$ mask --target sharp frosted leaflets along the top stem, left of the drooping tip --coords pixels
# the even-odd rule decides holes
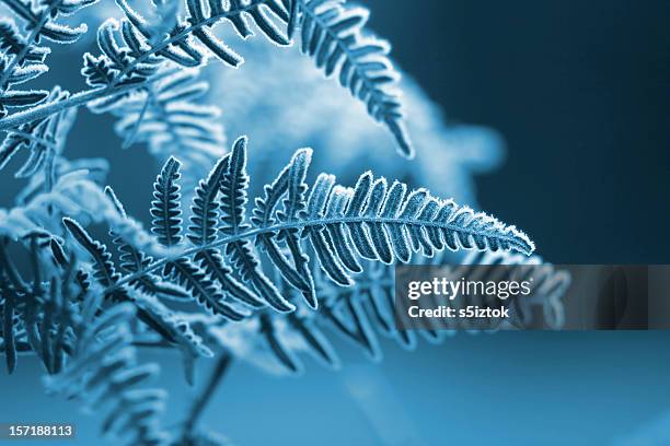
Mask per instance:
[[[82,74],[91,86],[113,86],[141,83],[155,73],[159,63],[170,60],[182,67],[201,66],[211,52],[232,67],[242,58],[221,42],[211,28],[222,21],[230,22],[238,34],[253,34],[249,19],[267,38],[278,45],[287,45],[277,20],[287,21],[288,13],[277,0],[212,0],[186,1],[186,16],[176,17],[176,1],[153,3],[155,9],[168,8],[173,12],[170,28],[152,24],[149,17],[132,9],[126,0],[117,4],[125,14],[119,22],[108,20],[99,30],[97,44],[101,56],[84,55]],[[162,11],[152,15],[168,19]]]

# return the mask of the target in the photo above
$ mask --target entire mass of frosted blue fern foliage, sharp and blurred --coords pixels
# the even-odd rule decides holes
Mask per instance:
[[[397,263],[529,266],[542,280],[513,310],[561,327],[569,274],[476,210],[472,174],[496,165],[500,138],[446,121],[367,30],[366,8],[117,0],[109,17],[93,0],[1,2],[0,171],[23,183],[0,208],[0,351],[9,373],[36,356],[46,389],[101,415],[114,444],[227,444],[198,421],[232,360],[298,374],[303,353],[343,366],[331,332],[376,360],[382,338],[413,349],[451,334],[396,329]],[[67,24],[80,19],[95,23],[89,40]],[[30,87],[49,79],[53,43],[85,47],[72,74],[84,90]],[[107,174],[154,174],[69,159],[86,110],[162,166],[150,202]],[[228,144],[236,134],[250,137]],[[215,357],[176,426],[145,347],[178,351],[190,384]]]

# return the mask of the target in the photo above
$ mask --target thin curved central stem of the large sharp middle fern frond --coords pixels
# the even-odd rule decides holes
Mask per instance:
[[[405,226],[420,226],[420,227],[436,227],[439,230],[449,230],[449,231],[453,231],[453,232],[460,232],[460,233],[464,233],[464,234],[469,234],[469,235],[477,235],[478,233],[476,231],[473,230],[469,230],[455,224],[451,224],[451,223],[439,223],[439,222],[432,222],[432,221],[416,221],[416,220],[409,220],[409,219],[400,219],[400,218],[380,218],[380,216],[340,216],[340,218],[328,218],[328,219],[319,219],[319,220],[308,220],[308,221],[297,221],[297,222],[287,222],[287,223],[281,223],[281,224],[276,224],[273,226],[267,226],[267,227],[257,227],[255,230],[251,230],[251,231],[246,231],[244,233],[241,234],[236,234],[236,235],[231,235],[230,237],[224,237],[221,238],[219,240],[212,242],[210,244],[207,245],[203,245],[203,246],[196,246],[193,248],[188,248],[186,250],[184,250],[182,254],[176,255],[176,256],[172,256],[172,257],[165,257],[163,259],[157,260],[153,263],[151,263],[150,266],[148,266],[147,268],[145,268],[143,270],[137,271],[130,275],[126,275],[124,278],[122,278],[120,280],[118,280],[114,285],[108,286],[105,290],[105,293],[111,293],[115,290],[117,290],[118,287],[125,285],[126,283],[132,282],[135,280],[140,279],[141,277],[143,277],[147,273],[153,272],[160,268],[162,268],[163,266],[165,266],[166,263],[174,261],[176,259],[180,258],[187,258],[190,256],[194,256],[200,251],[207,250],[207,249],[212,249],[212,248],[218,248],[221,246],[226,246],[226,245],[230,245],[231,243],[235,243],[235,242],[240,242],[244,238],[251,238],[251,237],[256,237],[263,234],[269,234],[269,233],[275,233],[278,231],[285,231],[285,230],[302,230],[305,227],[312,227],[312,226],[324,226],[324,225],[328,225],[328,224],[339,224],[339,223],[383,223],[383,224],[401,224],[401,225],[405,225]],[[504,237],[504,236],[499,236],[498,238],[507,240],[509,243],[511,243],[512,245],[515,244],[515,237],[510,236],[510,237]]]

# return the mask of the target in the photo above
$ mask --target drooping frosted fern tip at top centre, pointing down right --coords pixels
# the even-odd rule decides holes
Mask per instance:
[[[300,30],[303,54],[315,59],[326,77],[366,104],[368,114],[393,134],[401,154],[412,157],[414,149],[403,124],[398,93],[392,89],[400,79],[388,55],[391,46],[362,33],[369,11],[349,7],[343,0],[285,0],[291,11],[288,35]]]

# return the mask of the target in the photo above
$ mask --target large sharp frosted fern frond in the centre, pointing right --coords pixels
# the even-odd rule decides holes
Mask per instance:
[[[305,273],[311,271],[307,246],[315,254],[312,265],[343,286],[354,283],[366,259],[406,262],[413,251],[432,255],[444,248],[525,255],[534,249],[513,226],[437,199],[425,189],[408,191],[398,181],[389,186],[385,178],[374,178],[370,172],[353,189],[336,186],[332,175],[321,174],[310,190],[304,183],[309,149],[299,150],[266,187],[247,221],[246,159],[243,137],[198,186],[189,224],[181,219],[180,163],[170,159],[157,179],[151,213],[153,232],[171,254],[123,274],[111,286],[103,283],[107,293],[155,273],[176,281],[211,313],[239,320],[249,315],[240,304],[269,305],[279,313],[296,308],[298,302],[290,301],[270,279],[275,272],[300,291],[310,306],[316,306],[314,280]],[[188,237],[183,238],[183,233]]]

